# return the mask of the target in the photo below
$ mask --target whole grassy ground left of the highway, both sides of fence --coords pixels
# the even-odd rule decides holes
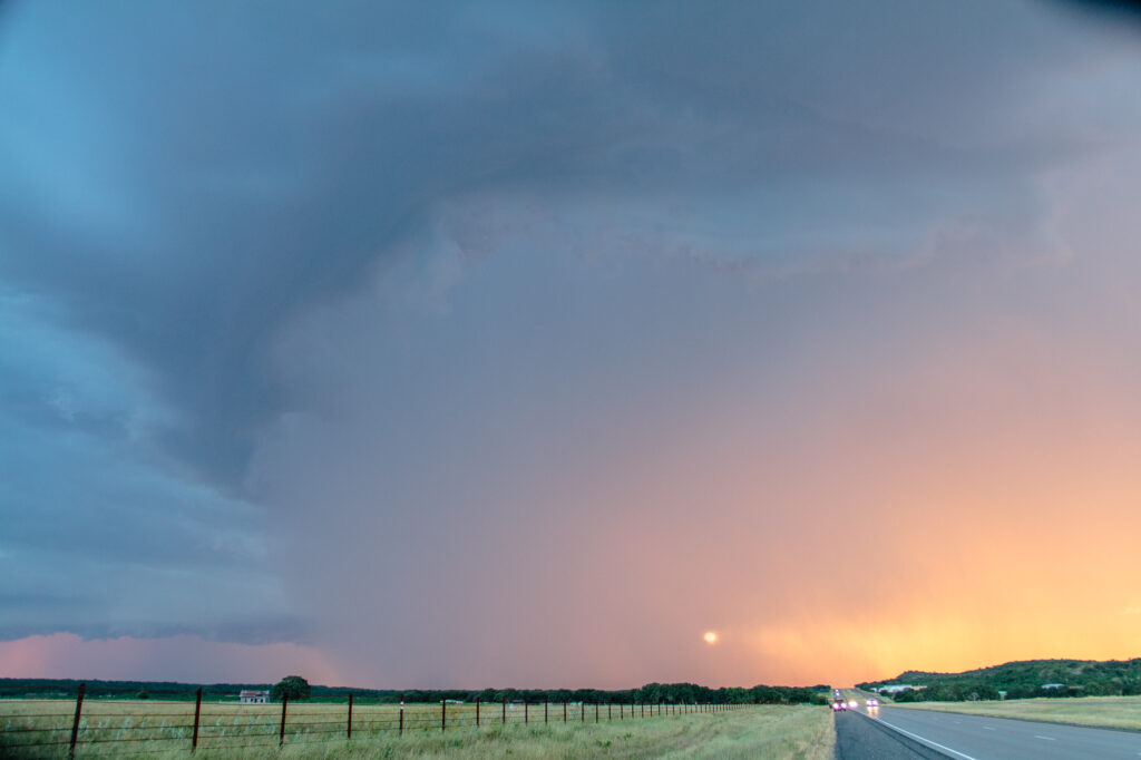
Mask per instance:
[[[324,758],[804,758],[832,757],[831,711],[818,706],[762,705],[719,713],[631,719],[630,706],[521,705],[502,723],[501,705],[485,705],[475,726],[471,704],[448,705],[440,730],[439,705],[408,705],[398,735],[395,705],[357,705],[353,741],[347,706],[296,704],[288,711],[285,746],[277,750],[281,705],[203,704],[195,759],[246,760],[272,751],[283,760]],[[74,703],[0,702],[0,755],[63,758]],[[194,705],[185,702],[90,701],[84,704],[76,758],[189,758]],[[585,722],[577,722],[585,717]]]

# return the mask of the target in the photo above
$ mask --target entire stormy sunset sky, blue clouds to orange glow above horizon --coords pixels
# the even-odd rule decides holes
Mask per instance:
[[[0,677],[1141,656],[1139,17],[0,5]]]

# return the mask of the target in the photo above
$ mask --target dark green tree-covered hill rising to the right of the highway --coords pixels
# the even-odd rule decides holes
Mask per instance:
[[[859,688],[876,690],[905,685],[922,688],[896,694],[897,702],[1141,694],[1141,657],[1022,660],[962,673],[908,670],[884,681],[857,684]]]

